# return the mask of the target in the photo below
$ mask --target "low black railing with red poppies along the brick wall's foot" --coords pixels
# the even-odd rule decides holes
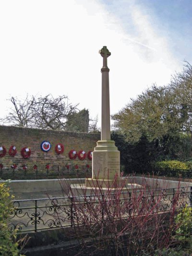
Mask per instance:
[[[58,177],[91,177],[91,168],[86,166],[74,165],[66,167],[53,166],[50,169],[0,169],[0,179],[7,180],[37,180],[37,179],[54,179]]]

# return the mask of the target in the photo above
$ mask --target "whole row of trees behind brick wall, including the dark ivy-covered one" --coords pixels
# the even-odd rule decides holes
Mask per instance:
[[[12,107],[0,122],[37,129],[67,130],[72,132],[99,132],[96,119],[89,118],[89,110],[78,110],[78,104],[73,105],[67,96],[54,98],[48,94],[45,97],[28,95],[22,101],[16,97],[8,99]]]

